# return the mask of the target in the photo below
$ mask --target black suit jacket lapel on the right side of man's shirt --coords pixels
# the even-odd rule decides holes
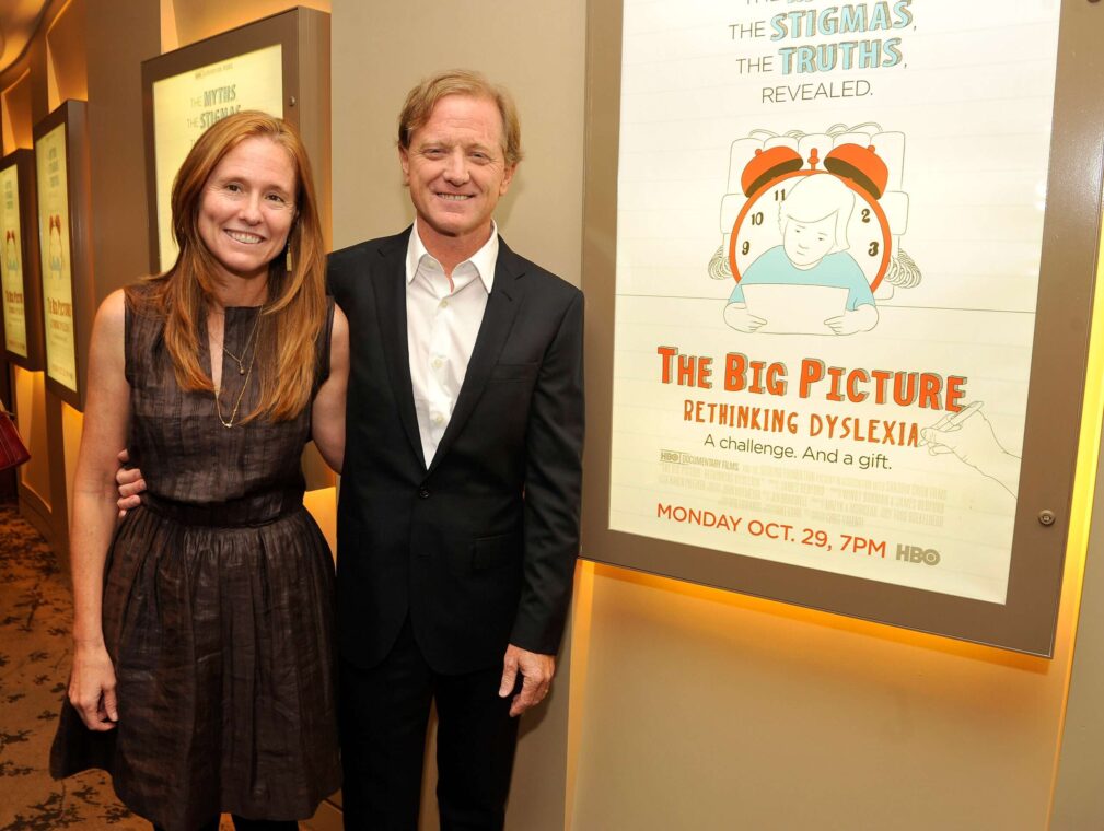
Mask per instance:
[[[518,283],[518,278],[524,273],[523,265],[521,258],[507,247],[501,237],[499,237],[498,244],[495,285],[487,296],[487,309],[484,311],[479,334],[476,335],[476,344],[471,350],[471,360],[468,361],[464,385],[456,398],[456,406],[453,407],[453,415],[448,419],[445,435],[442,436],[440,444],[437,445],[437,452],[429,465],[429,472],[433,472],[448,452],[456,436],[464,429],[464,425],[471,416],[471,411],[475,409],[479,396],[482,395],[490,372],[498,363],[498,356],[502,352],[507,335],[513,326],[513,318],[518,313],[521,299],[521,285]],[[410,383],[408,373],[407,383]]]

